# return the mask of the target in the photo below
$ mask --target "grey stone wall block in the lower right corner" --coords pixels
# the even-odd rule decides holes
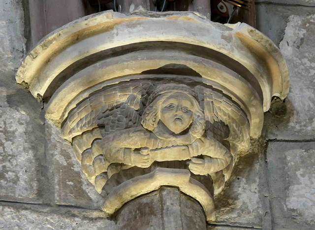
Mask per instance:
[[[273,229],[315,229],[315,142],[269,142]]]

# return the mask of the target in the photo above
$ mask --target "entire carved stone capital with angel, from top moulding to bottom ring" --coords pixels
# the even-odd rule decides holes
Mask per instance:
[[[269,38],[193,12],[78,19],[43,38],[16,80],[44,100],[105,212],[168,185],[198,200],[208,221],[237,153],[289,89]]]

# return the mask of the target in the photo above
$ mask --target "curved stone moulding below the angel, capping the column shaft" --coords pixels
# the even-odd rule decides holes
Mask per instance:
[[[106,213],[114,214],[127,201],[138,197],[138,191],[149,193],[163,185],[178,187],[183,193],[198,200],[205,211],[207,221],[215,220],[212,195],[200,182],[192,179],[189,171],[185,169],[157,168],[151,173],[128,180],[105,198],[102,209]]]

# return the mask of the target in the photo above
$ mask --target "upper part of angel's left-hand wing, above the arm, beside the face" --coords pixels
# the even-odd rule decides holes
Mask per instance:
[[[126,128],[127,120],[137,119],[137,110],[141,106],[141,98],[149,84],[126,83],[107,90],[100,90],[95,95],[80,102],[68,114],[63,122],[63,137],[69,141],[85,131],[103,126],[105,130]],[[122,116],[126,116],[123,119]],[[130,117],[131,116],[131,117]],[[129,122],[129,121],[128,121]]]

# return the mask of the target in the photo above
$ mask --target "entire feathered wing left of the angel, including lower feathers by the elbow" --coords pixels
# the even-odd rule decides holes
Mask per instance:
[[[139,109],[150,86],[150,83],[129,82],[100,90],[70,111],[63,123],[63,137],[72,140],[75,156],[98,193],[108,179],[109,165],[100,151],[92,151],[92,143],[106,132],[139,125]]]

